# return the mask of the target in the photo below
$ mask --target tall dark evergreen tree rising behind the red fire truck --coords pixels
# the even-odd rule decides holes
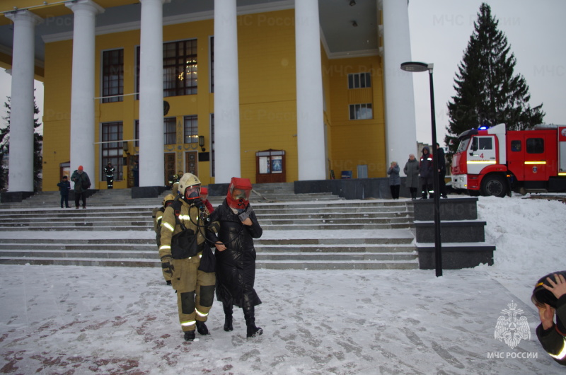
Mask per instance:
[[[456,96],[448,103],[444,141],[453,153],[458,134],[468,129],[504,123],[509,130],[521,130],[543,122],[543,105],[529,105],[529,86],[524,76],[514,74],[516,59],[498,23],[483,3],[454,79]]]

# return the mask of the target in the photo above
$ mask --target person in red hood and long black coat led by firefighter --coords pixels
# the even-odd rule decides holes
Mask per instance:
[[[260,238],[262,229],[249,203],[251,190],[250,180],[233,177],[226,199],[210,214],[209,228],[218,228],[218,236],[212,230],[207,231],[207,238],[216,246],[216,299],[224,307],[224,330],[233,330],[232,306],[236,305],[243,309],[247,337],[263,333],[255,325],[255,306],[261,300],[253,289],[253,238]]]

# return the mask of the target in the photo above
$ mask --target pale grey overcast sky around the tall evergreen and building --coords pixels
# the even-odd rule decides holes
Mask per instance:
[[[446,103],[454,96],[454,78],[473,31],[480,0],[410,0],[412,60],[434,64],[434,106],[437,137],[444,141],[448,125]],[[489,0],[499,30],[515,54],[515,74],[529,85],[531,107],[543,103],[546,123],[566,124],[565,0]],[[417,140],[431,142],[428,74],[413,74]],[[43,107],[43,87],[37,82],[36,100]],[[0,69],[0,103],[10,95],[11,79]],[[0,110],[5,117],[4,105]],[[4,121],[0,122],[2,125]]]

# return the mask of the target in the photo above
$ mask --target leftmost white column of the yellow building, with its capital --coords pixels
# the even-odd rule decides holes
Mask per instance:
[[[33,75],[35,25],[30,11],[6,13],[13,23],[8,191],[33,192]]]

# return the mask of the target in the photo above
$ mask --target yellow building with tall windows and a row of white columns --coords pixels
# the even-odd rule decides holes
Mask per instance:
[[[92,188],[105,189],[103,168],[108,162],[116,167],[114,188],[130,188],[136,183],[132,166],[138,158],[141,187],[166,185],[169,176],[178,171],[197,174],[204,185],[224,183],[226,177],[219,178],[219,173],[228,175],[229,171],[221,171],[219,161],[222,166],[236,162],[237,168],[231,166],[234,171],[239,168],[235,174],[252,183],[341,178],[342,171],[350,172],[352,178],[385,177],[388,158],[403,160],[415,153],[416,145],[412,81],[398,65],[393,67],[410,55],[404,57],[407,48],[399,52],[393,43],[383,50],[389,5],[333,0],[320,1],[319,6],[316,0],[303,1],[301,6],[311,8],[296,8],[296,1],[238,0],[236,8],[236,0],[0,0],[5,16],[0,19],[3,67],[16,70],[13,61],[22,42],[14,42],[18,40],[14,26],[24,21],[15,15],[21,13],[33,23],[27,28],[32,28],[35,38],[34,76],[45,83],[43,190],[56,189],[59,178],[79,164],[85,165],[91,176]],[[144,27],[156,21],[144,20],[151,17],[150,6],[156,2],[162,6],[163,14],[158,15],[161,24],[145,30],[158,27],[163,31],[163,50],[157,51],[163,54],[158,60],[163,67],[157,68],[163,87],[151,88],[151,95],[145,96],[149,92],[146,87],[151,86],[146,72],[151,67],[144,68],[144,61],[149,61],[156,49],[144,47],[151,45],[147,42],[151,36],[144,42]],[[234,17],[215,25],[220,13],[214,5],[224,3],[233,6]],[[80,12],[85,9],[90,12],[86,17],[91,18],[82,21],[79,17],[86,13]],[[312,9],[319,13],[320,24],[314,27],[302,22],[303,17],[313,15]],[[406,4],[400,10],[390,9],[392,20],[398,21],[403,11],[407,13]],[[95,22],[92,35],[84,30],[88,19]],[[401,21],[401,28],[408,30],[408,21]],[[232,55],[225,54],[224,47],[214,48],[220,42],[226,45],[224,35],[230,31],[218,30],[229,23],[236,25],[237,34],[236,42],[231,42],[237,53]],[[8,32],[10,28],[13,31]],[[298,52],[298,45],[310,35],[308,30],[320,30],[316,35],[319,48],[311,44],[305,54],[304,50]],[[392,28],[391,33],[398,31]],[[88,37],[92,38],[91,51],[78,51],[79,37],[86,37],[87,42],[80,45],[87,47]],[[407,47],[408,40],[401,37],[399,43]],[[391,69],[395,69],[391,74],[385,69],[387,53],[396,59],[391,62]],[[316,54],[320,54],[315,67],[318,72],[311,74]],[[232,57],[237,60],[231,61]],[[30,56],[18,58],[25,61]],[[231,71],[231,66],[237,70]],[[308,66],[311,70],[306,70],[307,74],[316,79],[320,76],[321,90],[315,87],[311,91],[318,85],[316,81],[304,87],[299,66]],[[228,72],[228,77],[222,76]],[[79,82],[82,79],[86,81]],[[221,93],[232,80],[238,95],[226,93],[230,101],[235,100],[239,113],[236,119],[229,119],[236,125],[224,125],[226,116],[219,115],[223,109],[216,108],[215,115],[215,105],[224,105],[224,100],[220,104],[218,100],[226,98]],[[16,76],[14,84],[18,84]],[[409,105],[397,102],[386,110],[387,85],[404,85]],[[18,89],[12,103],[23,96]],[[12,93],[14,96],[14,88]],[[163,105],[154,95],[161,93]],[[391,95],[393,98],[395,93]],[[305,104],[307,112],[301,109]],[[302,111],[299,115],[298,110]],[[310,117],[310,110],[314,117]],[[408,116],[408,120],[390,117],[395,113]],[[155,120],[157,115],[163,117],[163,124],[156,125],[161,121]],[[229,135],[234,127],[236,137]],[[311,132],[309,127],[316,128]],[[153,134],[149,140],[148,129]],[[155,129],[162,137],[155,137]],[[406,143],[410,146],[403,146]],[[151,157],[144,159],[144,153]],[[316,163],[311,165],[311,160]],[[156,165],[151,164],[154,161]],[[10,168],[25,168],[25,163]],[[19,183],[18,178],[10,176],[8,192],[29,191],[28,178],[19,178]],[[16,180],[14,185],[12,179]]]

